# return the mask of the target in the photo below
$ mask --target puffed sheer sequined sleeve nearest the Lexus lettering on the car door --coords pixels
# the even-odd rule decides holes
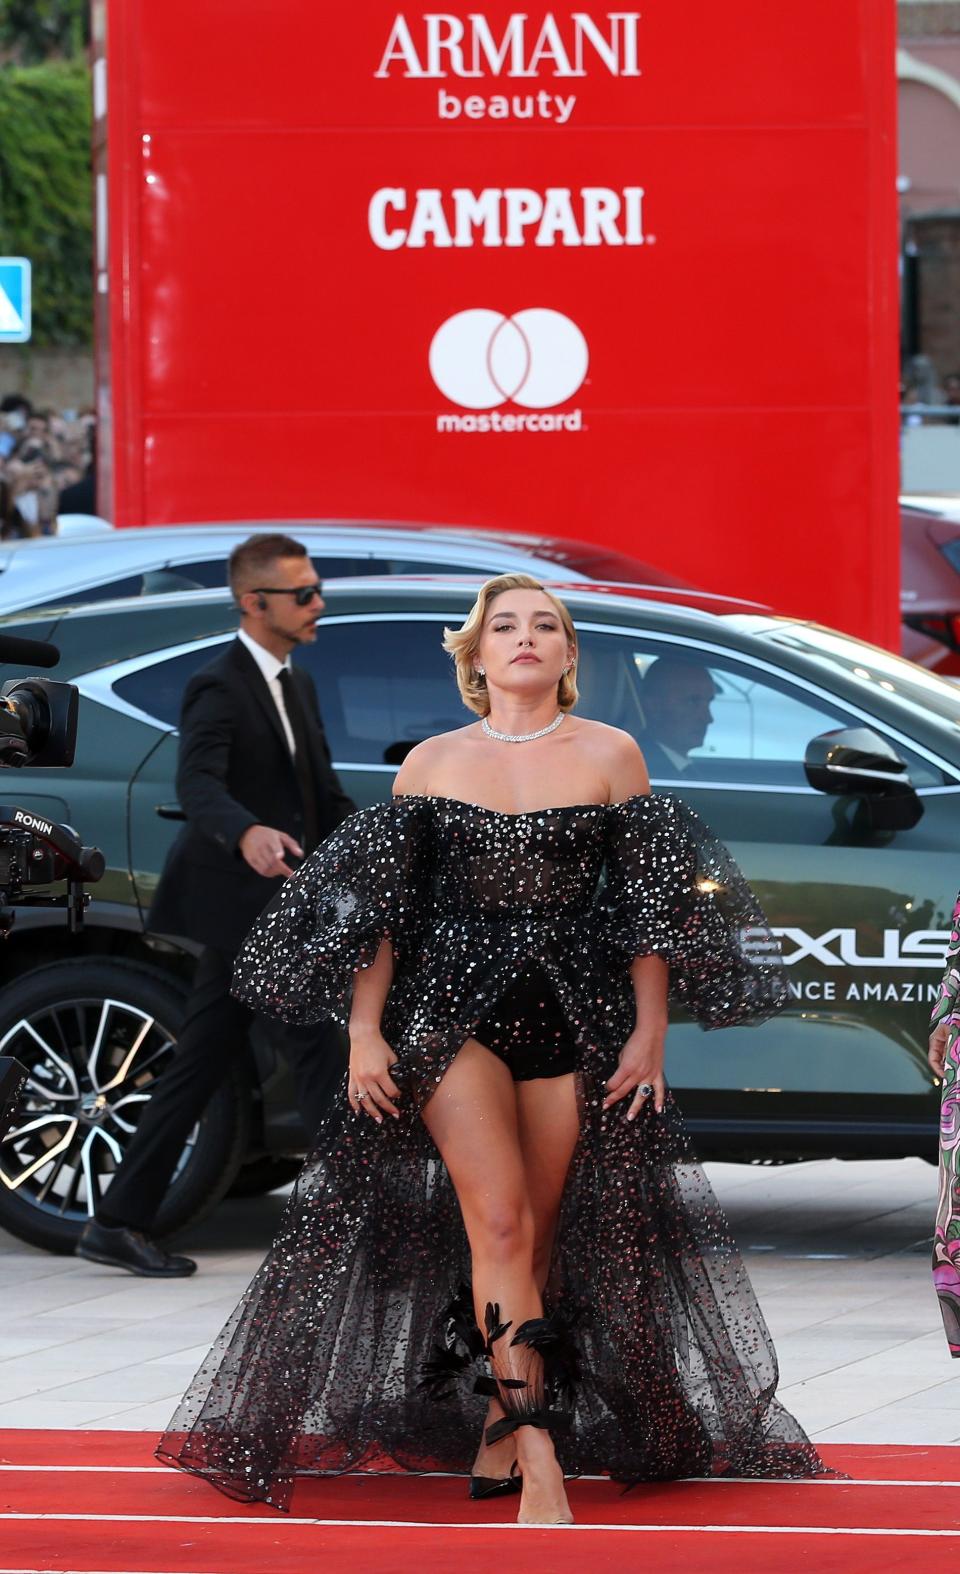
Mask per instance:
[[[762,1022],[787,1003],[760,903],[722,842],[672,793],[611,806],[600,900],[611,959],[663,957],[670,999],[702,1028]]]

